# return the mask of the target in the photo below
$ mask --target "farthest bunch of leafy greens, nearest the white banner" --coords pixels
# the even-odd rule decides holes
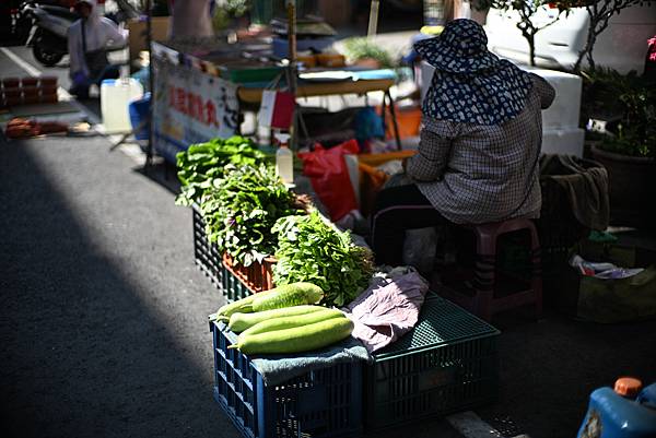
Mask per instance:
[[[227,164],[256,165],[266,161],[251,140],[231,137],[227,140],[213,139],[207,143],[192,144],[176,156],[181,192],[175,200],[178,205],[199,202],[203,193],[211,189],[212,181],[223,177]]]

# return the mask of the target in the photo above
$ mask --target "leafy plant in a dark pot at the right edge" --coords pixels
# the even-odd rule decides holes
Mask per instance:
[[[608,170],[611,224],[656,227],[656,84],[635,72],[609,78],[621,114],[591,155]]]

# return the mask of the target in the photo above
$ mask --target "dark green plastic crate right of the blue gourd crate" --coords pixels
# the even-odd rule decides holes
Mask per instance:
[[[365,431],[490,403],[499,330],[430,293],[415,328],[364,369]]]

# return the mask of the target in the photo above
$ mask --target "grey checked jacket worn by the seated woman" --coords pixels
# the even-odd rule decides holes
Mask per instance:
[[[408,175],[447,220],[481,224],[512,217],[539,217],[539,158],[542,114],[555,91],[530,73],[532,88],[524,109],[492,126],[424,116],[419,153]]]

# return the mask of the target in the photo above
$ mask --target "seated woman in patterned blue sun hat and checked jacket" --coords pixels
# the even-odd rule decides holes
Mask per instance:
[[[422,106],[412,185],[382,190],[372,215],[376,262],[402,263],[406,229],[539,217],[542,115],[555,92],[488,50],[483,28],[449,22],[415,50],[435,68]]]

